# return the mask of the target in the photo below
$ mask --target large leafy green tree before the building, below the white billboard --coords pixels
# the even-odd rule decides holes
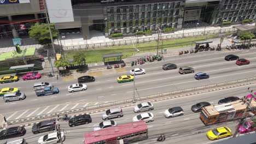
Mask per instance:
[[[54,27],[54,23],[50,23],[51,34],[53,35],[53,40],[57,39],[58,31]],[[30,28],[28,32],[30,37],[36,40],[40,45],[51,44],[50,32],[47,24],[42,23],[40,25],[36,24]]]

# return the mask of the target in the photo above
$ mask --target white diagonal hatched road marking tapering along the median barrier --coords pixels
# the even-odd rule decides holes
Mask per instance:
[[[44,107],[35,107],[34,109],[8,112],[8,113],[3,113],[3,115],[6,117],[7,121],[13,121],[13,120],[27,118],[27,117],[33,117],[33,116],[36,117],[39,115],[46,115],[54,112],[79,109],[86,106],[100,105],[100,104],[105,104],[109,102],[110,101],[97,101],[97,102],[90,102],[90,103],[66,103],[66,104],[58,104],[58,105],[51,105],[51,106],[44,106]]]

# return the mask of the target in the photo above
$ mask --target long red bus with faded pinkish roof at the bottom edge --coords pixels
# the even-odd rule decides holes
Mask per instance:
[[[148,139],[148,127],[144,121],[120,124],[115,127],[84,134],[84,144],[119,144]]]

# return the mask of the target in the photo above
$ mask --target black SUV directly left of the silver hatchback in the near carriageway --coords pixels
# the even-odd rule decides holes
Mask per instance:
[[[74,127],[76,125],[88,124],[91,123],[90,115],[79,115],[69,119],[68,125],[69,127]]]

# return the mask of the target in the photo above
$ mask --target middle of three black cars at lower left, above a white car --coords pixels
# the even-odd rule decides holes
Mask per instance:
[[[39,123],[34,123],[32,127],[32,133],[33,134],[38,134],[43,131],[51,131],[55,130],[55,121],[47,120],[47,121],[42,121]]]

